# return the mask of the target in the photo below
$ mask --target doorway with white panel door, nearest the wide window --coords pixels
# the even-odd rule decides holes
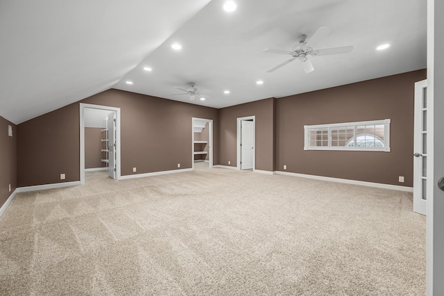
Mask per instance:
[[[255,170],[255,116],[237,118],[237,168]]]

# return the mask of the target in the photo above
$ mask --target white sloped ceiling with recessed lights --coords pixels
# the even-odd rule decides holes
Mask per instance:
[[[189,82],[211,91],[192,104],[222,108],[426,67],[426,1],[236,1],[226,13],[225,0],[3,0],[0,115],[19,124],[110,88],[189,102],[170,95]],[[352,53],[312,58],[309,74],[297,60],[266,72],[291,57],[263,49],[291,50],[321,26],[332,33],[319,49]]]

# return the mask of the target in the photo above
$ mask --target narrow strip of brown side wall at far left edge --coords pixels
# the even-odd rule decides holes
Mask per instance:
[[[8,136],[12,126],[12,137]],[[11,191],[9,192],[9,184]],[[0,116],[0,207],[17,188],[17,126]]]

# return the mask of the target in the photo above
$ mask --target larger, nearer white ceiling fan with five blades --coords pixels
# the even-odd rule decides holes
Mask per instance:
[[[293,60],[298,59],[300,63],[302,63],[302,67],[304,68],[305,73],[309,73],[314,71],[313,64],[311,64],[311,60],[309,60],[309,57],[315,57],[315,56],[329,56],[334,54],[348,54],[353,50],[352,46],[348,47],[332,47],[328,49],[314,49],[316,45],[318,45],[319,42],[321,42],[324,38],[327,37],[327,35],[330,34],[330,28],[327,28],[325,26],[321,26],[321,28],[318,28],[318,31],[314,33],[313,36],[307,41],[307,35],[300,35],[298,37],[298,44],[296,44],[292,51],[284,51],[279,49],[264,49],[264,52],[268,54],[284,54],[292,56],[291,59],[286,60],[284,63],[281,63],[277,65],[276,67],[273,67],[269,69],[267,72],[273,72],[280,67],[283,67],[284,65],[287,65]]]

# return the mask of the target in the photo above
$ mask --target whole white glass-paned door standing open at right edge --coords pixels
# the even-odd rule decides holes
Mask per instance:
[[[415,83],[413,133],[413,211],[426,214],[427,203],[427,80]]]

